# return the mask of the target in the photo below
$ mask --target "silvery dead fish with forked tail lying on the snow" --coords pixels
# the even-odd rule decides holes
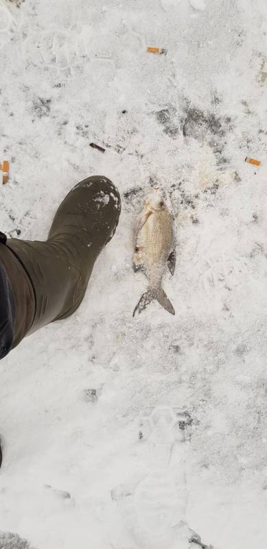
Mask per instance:
[[[166,266],[174,274],[176,263],[174,218],[167,209],[164,193],[156,187],[145,200],[139,213],[135,232],[134,270],[145,272],[148,278],[148,290],[141,296],[133,316],[146,309],[153,299],[162,307],[175,314],[172,303],[162,288],[162,279]]]

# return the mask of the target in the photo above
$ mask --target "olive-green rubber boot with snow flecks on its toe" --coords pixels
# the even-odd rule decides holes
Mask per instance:
[[[76,311],[95,259],[115,233],[120,209],[113,183],[89,177],[60,204],[47,241],[12,238],[0,244],[0,261],[16,302],[12,349],[25,335]]]

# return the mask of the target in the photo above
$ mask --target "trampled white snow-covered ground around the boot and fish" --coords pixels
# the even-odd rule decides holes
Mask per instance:
[[[92,174],[122,199],[78,312],[1,361],[0,530],[36,549],[198,549],[190,528],[264,548],[266,0],[0,0],[0,48],[1,231],[44,239]],[[132,318],[132,224],[155,183],[176,215],[176,316]]]

